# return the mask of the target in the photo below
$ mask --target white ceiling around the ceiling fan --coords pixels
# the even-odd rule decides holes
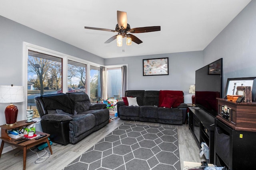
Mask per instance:
[[[203,50],[251,0],[0,0],[0,15],[103,58]],[[116,11],[127,12],[143,43],[104,42],[117,33]],[[126,39],[124,39],[126,40]],[[124,50],[124,52],[123,52]]]

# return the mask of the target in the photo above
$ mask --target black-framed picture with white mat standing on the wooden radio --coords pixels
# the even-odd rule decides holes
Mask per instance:
[[[246,87],[250,87],[252,101],[256,100],[256,77],[228,78],[226,84],[226,96],[245,96]]]

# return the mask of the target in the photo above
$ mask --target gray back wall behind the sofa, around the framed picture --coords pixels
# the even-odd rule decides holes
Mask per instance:
[[[169,75],[143,76],[142,59],[169,57]],[[105,59],[105,65],[128,64],[127,90],[182,90],[185,103],[192,103],[189,86],[195,84],[195,70],[203,66],[203,52],[168,53]]]

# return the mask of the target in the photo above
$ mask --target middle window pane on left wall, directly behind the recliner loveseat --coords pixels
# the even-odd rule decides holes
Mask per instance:
[[[68,92],[86,92],[86,64],[68,60]]]

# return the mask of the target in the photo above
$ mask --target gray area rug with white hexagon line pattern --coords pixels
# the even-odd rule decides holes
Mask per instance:
[[[123,123],[64,170],[180,170],[177,129]]]

